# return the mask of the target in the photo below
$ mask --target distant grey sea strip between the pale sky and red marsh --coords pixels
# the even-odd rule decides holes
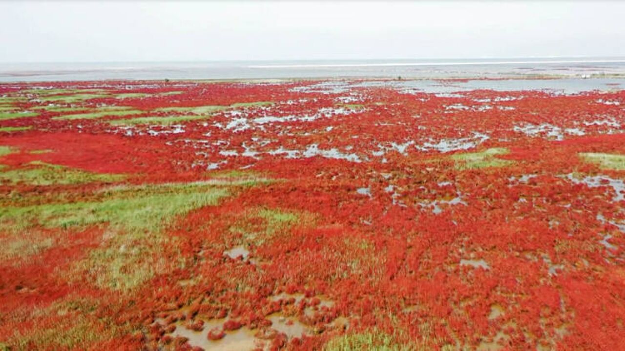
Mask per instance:
[[[0,82],[322,77],[586,77],[625,74],[625,57],[325,61],[0,63]]]

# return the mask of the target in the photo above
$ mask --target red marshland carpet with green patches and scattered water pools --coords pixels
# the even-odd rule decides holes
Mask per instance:
[[[625,350],[624,106],[1,84],[0,350]]]

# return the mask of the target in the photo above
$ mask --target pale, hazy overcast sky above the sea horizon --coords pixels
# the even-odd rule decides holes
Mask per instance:
[[[0,62],[625,56],[618,1],[0,1]]]

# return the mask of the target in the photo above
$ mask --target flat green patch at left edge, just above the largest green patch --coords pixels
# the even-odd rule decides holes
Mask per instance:
[[[85,172],[43,162],[30,162],[26,167],[0,172],[0,182],[8,182],[9,184],[24,183],[29,185],[118,182],[123,180],[124,177],[124,175],[119,174]]]

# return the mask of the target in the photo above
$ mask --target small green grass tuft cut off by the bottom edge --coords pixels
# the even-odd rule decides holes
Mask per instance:
[[[414,351],[424,348],[409,343],[397,342],[392,335],[373,330],[360,334],[347,334],[336,337],[325,345],[324,351]]]

